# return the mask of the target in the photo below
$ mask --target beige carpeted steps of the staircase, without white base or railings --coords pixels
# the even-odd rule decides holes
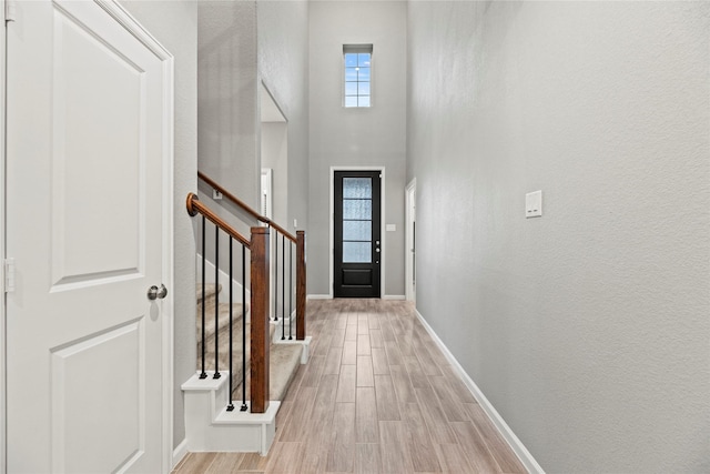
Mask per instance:
[[[196,334],[197,334],[197,371],[202,371],[201,354],[202,354],[202,304],[205,305],[205,370],[214,371],[214,352],[215,352],[215,335],[217,336],[217,362],[220,372],[227,372],[230,370],[229,350],[230,350],[230,304],[220,303],[220,316],[219,316],[219,332],[214,322],[216,294],[222,290],[222,285],[207,284],[205,285],[205,301],[202,301],[202,286],[197,285],[196,299],[197,299],[197,314],[196,314]],[[248,377],[248,356],[250,356],[250,323],[248,323],[248,304],[246,305],[246,370]],[[232,305],[232,337],[235,346],[242,344],[242,303],[234,303]],[[276,323],[272,323],[270,327],[271,334],[271,347],[270,347],[270,371],[268,376],[271,381],[268,400],[283,400],[288,385],[293,380],[298,365],[306,363],[307,354],[305,354],[305,345],[288,343],[288,341],[281,341],[281,326]],[[277,331],[278,330],[278,331]],[[278,334],[277,334],[278,333]],[[241,350],[234,350],[234,360],[232,362],[232,400],[242,400],[242,374],[243,374],[243,356]],[[248,382],[246,384],[246,400],[248,400]],[[235,403],[241,405],[241,403]]]

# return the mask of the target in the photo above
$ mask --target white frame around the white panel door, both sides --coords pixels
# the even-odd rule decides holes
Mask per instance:
[[[0,20],[6,26],[6,1],[0,0]],[[173,464],[173,316],[174,316],[174,57],[148,31],[138,20],[116,0],[94,0],[106,13],[113,17],[123,28],[129,30],[141,41],[163,64],[163,147],[162,147],[162,179],[163,179],[163,212],[162,221],[162,281],[171,290],[162,300],[162,472],[170,472]],[[7,28],[0,34],[0,110],[6,110],[7,95]],[[6,249],[6,117],[0,114],[0,474],[7,473],[7,347],[6,299],[4,299],[4,260]]]

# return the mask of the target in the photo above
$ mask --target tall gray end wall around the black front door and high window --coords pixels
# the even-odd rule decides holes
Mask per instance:
[[[384,295],[404,295],[406,2],[311,3],[308,294],[331,294],[331,167],[386,167]],[[345,109],[343,44],[373,44],[373,107]]]

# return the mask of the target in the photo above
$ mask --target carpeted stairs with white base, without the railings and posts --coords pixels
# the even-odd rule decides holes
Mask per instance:
[[[232,309],[233,362],[230,374],[230,305],[220,303],[219,326],[214,314],[216,295],[222,285],[206,284],[202,300],[202,288],[196,291],[197,299],[197,364],[199,367],[187,382],[182,385],[185,402],[186,451],[189,452],[242,452],[266,455],[276,433],[276,413],[281,401],[288,390],[298,366],[307,363],[311,337],[304,341],[282,341],[281,326],[270,324],[270,393],[268,409],[264,413],[251,413],[250,405],[250,313],[246,309],[246,325],[242,321],[242,304],[235,303]],[[205,371],[202,373],[202,305],[205,306]],[[248,306],[248,305],[247,305]],[[242,334],[246,330],[246,350],[242,355]],[[217,363],[220,374],[214,379],[215,336],[219,342]],[[243,374],[245,359],[246,376]],[[232,393],[229,393],[229,379],[232,379]],[[242,381],[245,383],[243,384]],[[243,387],[246,387],[246,393]],[[230,411],[230,402],[234,410]],[[245,406],[247,410],[242,411]]]

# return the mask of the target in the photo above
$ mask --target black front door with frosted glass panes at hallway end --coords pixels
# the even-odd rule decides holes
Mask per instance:
[[[335,172],[335,297],[379,297],[379,173]]]

